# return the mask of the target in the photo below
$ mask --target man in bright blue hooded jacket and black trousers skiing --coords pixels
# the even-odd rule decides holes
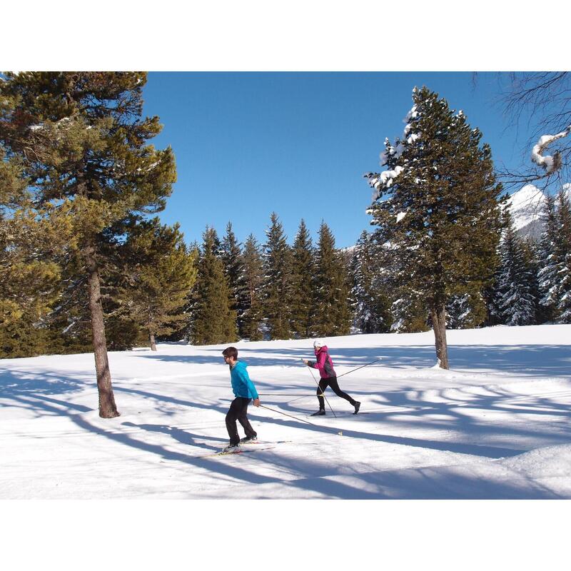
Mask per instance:
[[[253,399],[254,406],[260,406],[260,399],[258,398],[258,391],[246,370],[248,365],[243,361],[238,361],[238,349],[236,347],[227,347],[222,351],[222,355],[224,362],[230,366],[232,390],[236,397],[232,401],[230,410],[228,410],[226,415],[226,429],[230,436],[230,444],[224,448],[223,452],[233,452],[240,448],[241,443],[257,440],[256,430],[251,427],[248,420],[248,405]],[[242,438],[242,440],[238,436],[236,420],[242,425],[246,433],[246,438]]]

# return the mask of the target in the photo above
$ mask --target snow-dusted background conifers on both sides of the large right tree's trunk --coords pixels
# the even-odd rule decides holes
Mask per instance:
[[[538,213],[544,230],[539,238],[520,236],[507,210],[487,281],[468,290],[454,284],[445,305],[448,329],[488,325],[571,323],[571,203],[560,191],[546,196]],[[414,333],[430,329],[430,313],[420,290],[398,276],[398,250],[378,243],[363,231],[351,266],[353,325],[362,333]],[[398,276],[398,278],[395,278]],[[482,274],[483,276],[483,274]]]

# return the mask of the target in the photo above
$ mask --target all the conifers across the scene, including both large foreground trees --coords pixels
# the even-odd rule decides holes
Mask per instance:
[[[106,350],[571,323],[571,213],[545,202],[540,240],[504,208],[491,149],[468,118],[413,91],[403,136],[368,173],[373,226],[340,250],[325,222],[263,241],[229,221],[186,245],[155,215],[176,181],[149,142],[139,72],[29,72],[0,81],[0,357],[93,350],[100,410],[116,413]],[[360,206],[358,206],[360,208]]]

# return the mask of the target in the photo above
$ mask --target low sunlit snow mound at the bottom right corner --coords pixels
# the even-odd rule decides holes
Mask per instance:
[[[571,444],[536,448],[513,458],[502,460],[502,465],[528,477],[569,476],[571,474]]]

